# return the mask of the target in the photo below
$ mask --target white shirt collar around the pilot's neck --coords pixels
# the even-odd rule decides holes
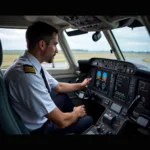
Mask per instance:
[[[31,53],[25,50],[23,56],[26,57],[32,63],[32,65],[38,72],[41,71],[41,63]]]

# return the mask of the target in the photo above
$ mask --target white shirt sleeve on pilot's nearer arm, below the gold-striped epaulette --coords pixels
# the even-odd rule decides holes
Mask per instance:
[[[12,94],[15,94],[15,97],[18,96],[17,99],[21,98],[20,102],[39,117],[43,117],[54,110],[56,105],[40,75],[20,72],[18,74],[16,80],[10,82]]]

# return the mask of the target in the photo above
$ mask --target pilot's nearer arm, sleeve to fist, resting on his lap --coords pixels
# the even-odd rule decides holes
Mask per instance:
[[[56,85],[57,81],[53,82],[53,87]],[[32,112],[32,116],[36,116],[36,118],[45,116],[60,128],[65,128],[73,124],[79,117],[86,115],[83,105],[74,107],[72,112],[62,112],[53,102],[43,79],[40,78],[38,73],[22,73],[17,78],[15,87],[14,92],[20,93],[22,104],[29,112]]]

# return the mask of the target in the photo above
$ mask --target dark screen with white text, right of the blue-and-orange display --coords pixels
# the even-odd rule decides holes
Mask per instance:
[[[117,100],[126,101],[128,96],[128,87],[129,87],[130,78],[123,75],[117,75],[116,83],[114,87],[113,97]]]

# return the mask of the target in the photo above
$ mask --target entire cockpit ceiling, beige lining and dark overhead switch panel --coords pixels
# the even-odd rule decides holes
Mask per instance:
[[[150,21],[150,17],[148,19]],[[140,16],[0,16],[0,27],[27,28],[38,20],[57,28],[69,26],[83,31],[143,26]]]

